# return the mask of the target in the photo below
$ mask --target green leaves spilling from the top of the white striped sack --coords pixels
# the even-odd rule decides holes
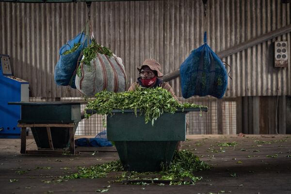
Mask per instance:
[[[86,65],[90,65],[90,62],[96,58],[97,52],[100,54],[105,54],[107,56],[112,57],[113,53],[107,47],[103,47],[102,45],[98,44],[95,39],[92,39],[91,44],[83,49],[83,59],[81,63],[84,62]]]

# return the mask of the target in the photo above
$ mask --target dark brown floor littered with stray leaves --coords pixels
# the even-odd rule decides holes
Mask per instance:
[[[233,142],[237,145],[222,146]],[[29,149],[36,147],[33,139],[27,144]],[[59,178],[77,172],[78,166],[118,160],[114,147],[94,155],[93,151],[80,155],[23,155],[19,139],[1,139],[0,193],[91,194],[103,190],[108,194],[291,194],[291,135],[191,135],[182,148],[212,165],[211,170],[194,172],[203,178],[195,185],[125,185],[110,182],[114,176]]]

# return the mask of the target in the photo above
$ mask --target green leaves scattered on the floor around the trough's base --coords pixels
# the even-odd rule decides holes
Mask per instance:
[[[181,184],[194,184],[197,180],[201,180],[202,177],[195,177],[195,171],[209,170],[211,167],[209,164],[200,161],[197,156],[187,150],[175,152],[173,160],[168,167],[162,167],[160,172],[130,172],[130,177],[126,176],[124,172],[121,179],[116,180],[120,182],[127,179],[139,179],[141,183],[143,180],[169,180],[170,185]],[[91,167],[79,167],[79,172],[62,176],[61,178],[73,179],[73,178],[104,178],[110,172],[123,171],[122,163],[120,160],[113,162],[106,162],[103,164],[97,164]],[[148,175],[149,178],[145,178]],[[140,178],[142,176],[143,178]],[[155,176],[156,178],[152,178]]]

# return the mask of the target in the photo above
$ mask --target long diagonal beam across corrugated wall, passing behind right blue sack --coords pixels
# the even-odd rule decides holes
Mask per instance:
[[[258,45],[260,43],[263,43],[263,42],[266,42],[268,40],[271,40],[277,36],[280,36],[280,35],[283,35],[283,34],[286,34],[286,33],[289,33],[291,32],[291,24],[290,25],[287,25],[283,28],[280,28],[278,30],[275,30],[275,31],[272,31],[272,32],[268,32],[268,33],[265,33],[259,37],[256,37],[256,38],[253,38],[253,39],[250,39],[242,44],[239,44],[237,46],[234,46],[234,47],[231,47],[229,49],[226,49],[226,50],[223,50],[221,52],[218,52],[217,55],[219,58],[224,58],[224,57],[227,57],[229,55],[232,55],[232,54],[235,54],[237,52],[240,52],[244,49],[247,49],[247,48],[250,48],[250,47],[253,47],[255,45]],[[176,69],[175,71],[171,72],[171,73],[168,73],[166,75],[164,75],[162,77],[162,81],[171,81],[175,78],[178,78],[180,76],[180,69]]]

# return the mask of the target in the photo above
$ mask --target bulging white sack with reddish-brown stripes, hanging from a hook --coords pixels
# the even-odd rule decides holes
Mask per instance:
[[[84,57],[83,57],[84,58]],[[84,96],[93,97],[103,90],[110,92],[126,91],[126,73],[122,59],[113,54],[112,57],[97,52],[90,65],[80,64],[75,84]]]

